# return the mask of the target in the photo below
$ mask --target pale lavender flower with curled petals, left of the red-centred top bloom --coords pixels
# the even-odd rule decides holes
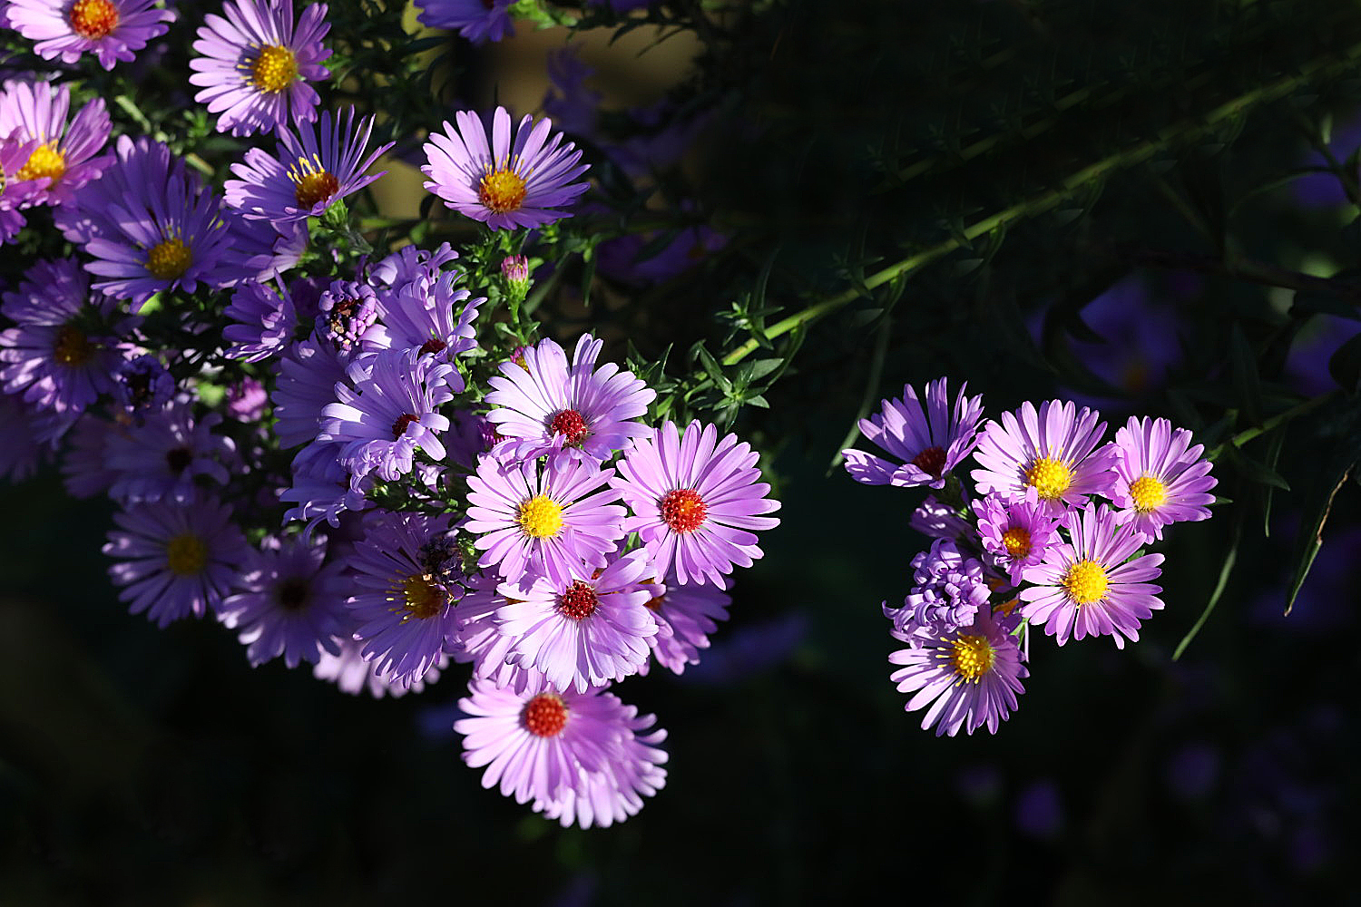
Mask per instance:
[[[354,362],[346,375],[354,390],[336,385],[340,403],[321,411],[318,441],[333,441],[340,461],[362,479],[377,472],[384,481],[411,472],[416,447],[444,460],[438,432],[449,420],[437,411],[463,390],[463,377],[449,363],[415,349],[388,351]]]

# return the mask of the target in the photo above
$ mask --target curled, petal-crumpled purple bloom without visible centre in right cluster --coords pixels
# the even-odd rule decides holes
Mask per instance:
[[[949,538],[936,538],[912,559],[912,582],[901,608],[883,609],[905,638],[943,636],[968,627],[988,609],[992,594],[983,563],[964,556]]]

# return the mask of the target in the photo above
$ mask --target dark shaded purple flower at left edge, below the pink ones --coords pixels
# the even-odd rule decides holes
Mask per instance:
[[[18,326],[0,332],[0,382],[5,393],[57,412],[80,412],[99,394],[113,390],[113,373],[122,362],[117,336],[132,322],[109,325],[110,335],[93,333],[108,322],[113,299],[90,295],[90,279],[75,261],[38,261],[0,311]]]

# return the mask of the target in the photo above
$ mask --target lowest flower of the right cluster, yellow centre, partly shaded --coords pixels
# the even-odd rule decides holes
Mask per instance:
[[[983,725],[996,733],[1017,707],[1021,680],[1030,672],[1021,664],[1021,647],[1011,631],[1015,617],[983,608],[974,621],[947,634],[912,639],[908,649],[889,655],[890,680],[900,692],[912,694],[906,711],[927,708],[921,729],[932,725],[936,737],[973,733]],[[928,707],[930,706],[930,707]]]

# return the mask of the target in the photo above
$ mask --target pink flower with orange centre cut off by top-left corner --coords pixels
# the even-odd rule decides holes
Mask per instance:
[[[76,63],[94,53],[99,65],[113,69],[118,60],[132,63],[136,52],[166,33],[174,12],[155,8],[155,0],[10,0],[10,27],[29,41],[44,60],[61,57]]]

